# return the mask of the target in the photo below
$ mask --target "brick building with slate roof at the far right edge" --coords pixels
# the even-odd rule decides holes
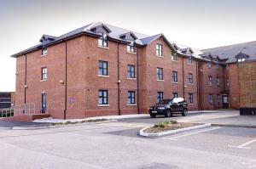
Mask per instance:
[[[218,57],[224,65],[225,93],[230,108],[241,115],[256,115],[256,42],[202,50]]]

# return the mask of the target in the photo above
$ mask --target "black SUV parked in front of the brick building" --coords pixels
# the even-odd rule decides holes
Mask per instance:
[[[154,106],[151,106],[148,113],[151,117],[155,117],[156,115],[171,117],[176,113],[186,116],[188,115],[188,103],[183,98],[163,99]]]

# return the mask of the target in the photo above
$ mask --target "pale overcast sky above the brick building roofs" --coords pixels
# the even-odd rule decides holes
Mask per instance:
[[[43,34],[60,36],[94,21],[171,42],[213,48],[256,40],[254,0],[0,0],[0,91],[15,91],[15,59]]]

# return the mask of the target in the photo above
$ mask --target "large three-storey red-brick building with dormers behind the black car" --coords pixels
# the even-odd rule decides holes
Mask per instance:
[[[36,112],[55,118],[147,113],[172,97],[188,100],[189,110],[212,110],[223,107],[229,94],[224,59],[182,48],[163,34],[96,22],[61,37],[44,35],[40,42],[12,56],[15,101],[33,103]]]

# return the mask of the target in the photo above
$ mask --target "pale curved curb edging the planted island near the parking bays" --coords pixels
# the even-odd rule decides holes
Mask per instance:
[[[152,126],[150,126],[150,127],[152,127]],[[142,130],[140,130],[139,135],[146,137],[146,138],[153,138],[153,137],[166,136],[166,135],[174,134],[177,132],[187,132],[190,130],[201,129],[201,128],[206,128],[206,127],[212,127],[211,123],[203,124],[203,125],[199,125],[199,126],[195,126],[195,127],[187,127],[187,128],[177,129],[177,130],[171,130],[171,131],[167,131],[167,132],[158,132],[158,133],[143,132],[143,130],[148,128],[148,127],[144,127]]]

